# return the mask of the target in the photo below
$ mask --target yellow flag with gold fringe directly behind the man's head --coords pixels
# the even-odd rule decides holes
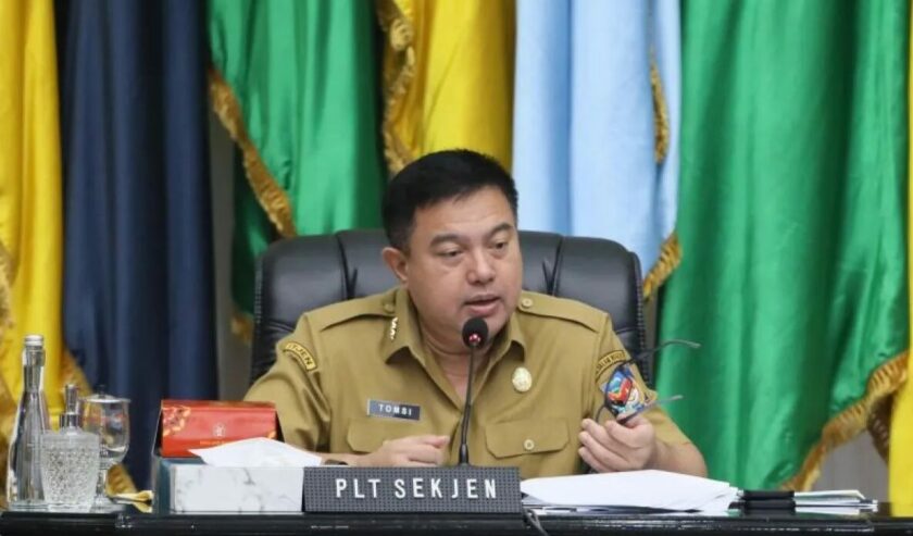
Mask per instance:
[[[441,149],[511,164],[513,0],[382,0],[390,170]]]

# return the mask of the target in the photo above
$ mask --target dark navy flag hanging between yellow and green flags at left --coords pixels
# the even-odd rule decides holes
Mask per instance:
[[[61,1],[64,337],[132,400],[149,484],[162,398],[216,397],[202,2]]]

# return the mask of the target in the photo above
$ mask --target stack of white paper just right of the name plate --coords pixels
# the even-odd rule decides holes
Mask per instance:
[[[520,488],[533,499],[529,506],[725,512],[738,498],[726,482],[656,470],[530,478]]]

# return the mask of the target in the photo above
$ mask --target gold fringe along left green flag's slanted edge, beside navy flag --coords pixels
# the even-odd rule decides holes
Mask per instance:
[[[241,115],[241,107],[238,104],[234,91],[215,67],[211,66],[208,74],[212,110],[218,116],[225,129],[228,130],[232,139],[241,149],[245,171],[257,200],[263,207],[270,221],[276,226],[279,235],[284,237],[296,236],[291,203],[285,190],[276,184],[276,179],[266,169],[263,159],[260,157],[260,151],[250,140]]]

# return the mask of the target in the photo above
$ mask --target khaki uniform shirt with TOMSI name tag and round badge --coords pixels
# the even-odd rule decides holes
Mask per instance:
[[[627,359],[609,315],[524,291],[489,357],[473,379],[471,463],[515,465],[524,478],[581,472],[580,421],[597,415],[601,386]],[[401,288],[303,314],[246,399],[275,402],[285,440],[307,450],[365,453],[435,434],[450,437],[447,463],[459,458],[463,401],[423,345]],[[662,410],[645,415],[660,439],[689,442]]]

